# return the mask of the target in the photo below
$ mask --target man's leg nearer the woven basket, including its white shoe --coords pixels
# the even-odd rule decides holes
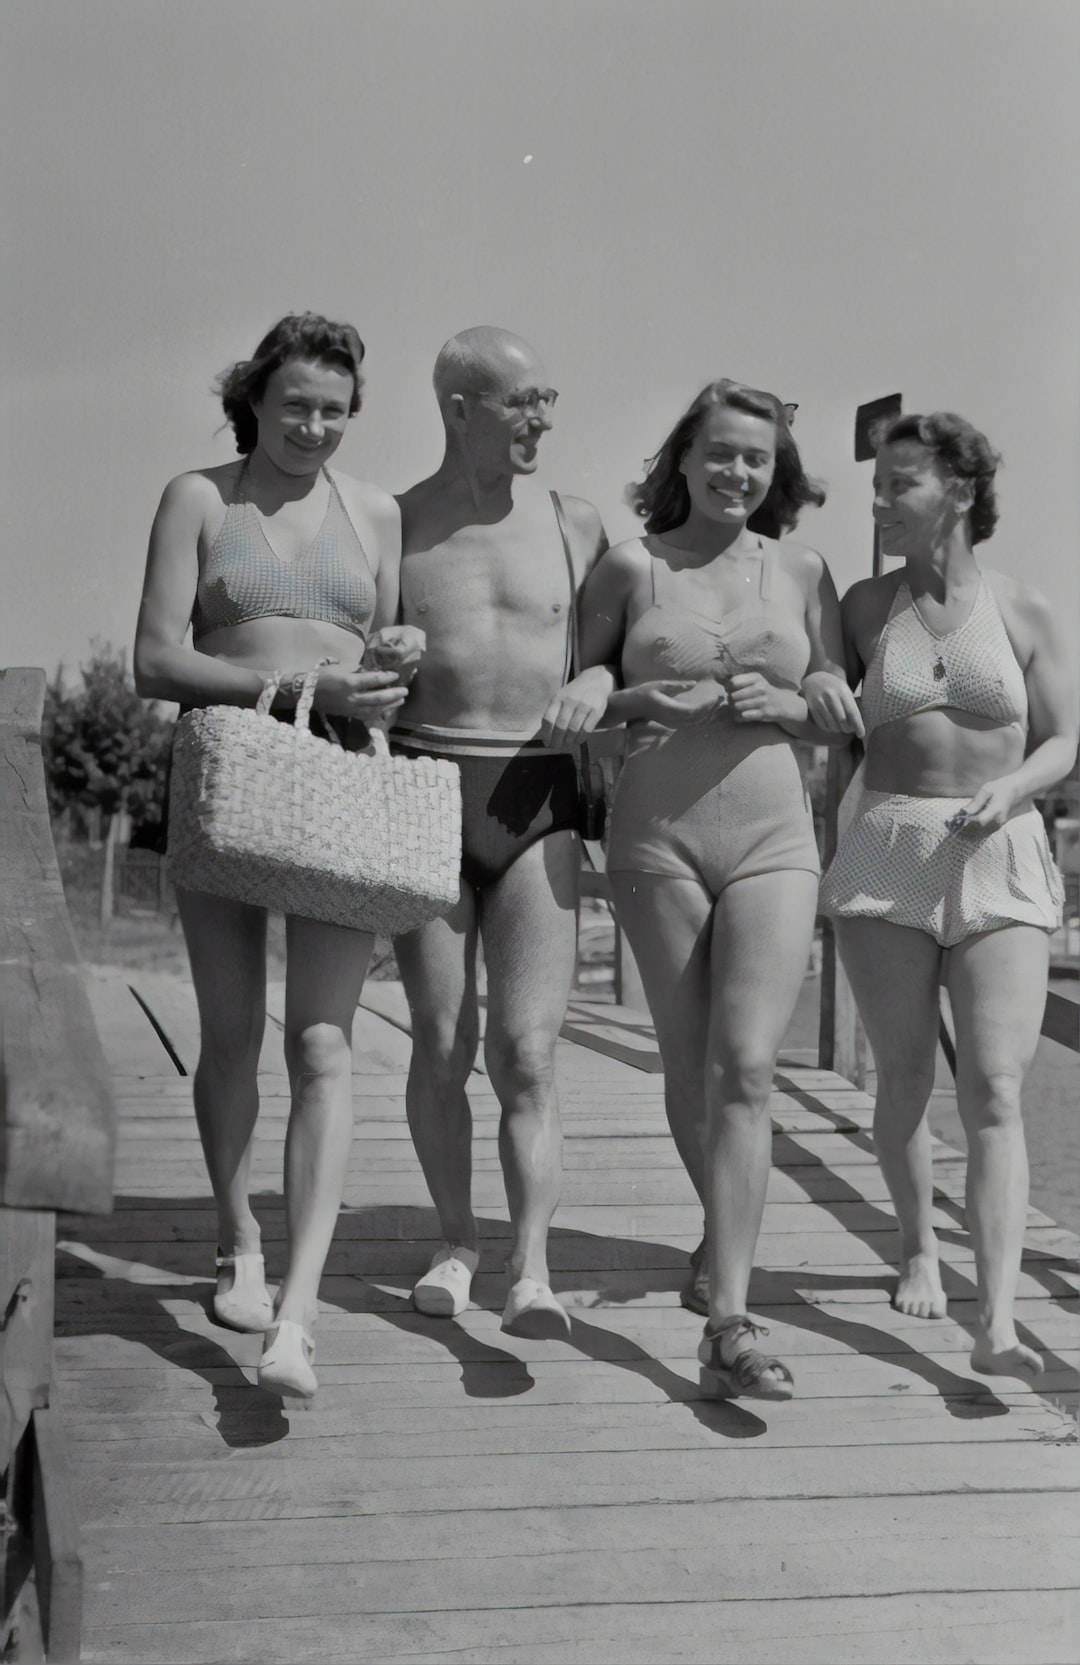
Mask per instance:
[[[398,937],[398,969],[413,1014],[413,1057],[406,1087],[409,1132],[449,1249],[478,1250],[473,1217],[473,1116],[466,1081],[476,1059],[476,901],[463,884],[461,901],[443,919]],[[476,1262],[451,1267],[454,1289],[416,1292],[423,1312],[446,1317],[468,1302]],[[421,1279],[421,1285],[426,1280]],[[436,1280],[438,1284],[438,1280]]]

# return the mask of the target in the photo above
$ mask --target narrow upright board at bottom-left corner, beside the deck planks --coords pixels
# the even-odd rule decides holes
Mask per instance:
[[[55,1410],[33,1414],[33,1543],[47,1657],[58,1665],[80,1655],[83,1563],[72,1495],[68,1447]]]

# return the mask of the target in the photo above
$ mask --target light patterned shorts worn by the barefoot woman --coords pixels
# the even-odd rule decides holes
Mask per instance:
[[[822,912],[909,926],[942,947],[1002,926],[1057,931],[1063,884],[1038,811],[975,834],[947,824],[960,804],[860,789],[822,881]]]

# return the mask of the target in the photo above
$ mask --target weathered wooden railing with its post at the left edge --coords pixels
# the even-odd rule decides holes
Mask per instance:
[[[43,671],[0,671],[0,1657],[67,1662],[82,1562],[50,1407],[57,1212],[111,1209],[115,1116],[48,826],[43,698]]]

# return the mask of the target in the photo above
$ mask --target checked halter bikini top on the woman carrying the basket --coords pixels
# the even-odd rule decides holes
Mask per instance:
[[[240,496],[241,468],[221,531],[198,576],[191,609],[195,641],[211,629],[263,618],[320,619],[366,636],[374,614],[374,578],[329,473],[326,480],[323,524],[295,559],[280,561],[255,504]]]

